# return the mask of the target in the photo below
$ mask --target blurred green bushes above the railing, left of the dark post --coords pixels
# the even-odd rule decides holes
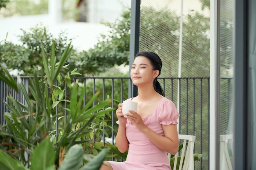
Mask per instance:
[[[77,68],[82,75],[95,75],[115,65],[129,63],[130,11],[125,11],[121,19],[115,23],[106,23],[106,26],[110,27],[110,33],[102,34],[94,48],[83,52],[72,50],[67,71]],[[5,42],[1,47],[0,57],[8,69],[18,69],[20,75],[32,75],[34,68],[43,69],[40,62],[41,42],[48,54],[51,53],[52,40],[55,40],[56,57],[59,58],[67,43],[71,41],[65,32],[59,33],[57,38],[54,38],[42,24],[36,24],[29,31],[22,30],[22,35],[18,37],[22,45]]]

